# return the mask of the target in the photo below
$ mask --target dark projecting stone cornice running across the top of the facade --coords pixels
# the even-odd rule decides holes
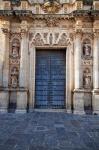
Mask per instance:
[[[25,19],[74,19],[75,17],[99,17],[99,10],[75,10],[70,14],[33,14],[31,10],[0,10],[0,18],[25,17]]]

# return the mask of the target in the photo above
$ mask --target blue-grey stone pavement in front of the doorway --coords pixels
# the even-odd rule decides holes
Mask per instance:
[[[99,116],[0,114],[0,150],[99,150]]]

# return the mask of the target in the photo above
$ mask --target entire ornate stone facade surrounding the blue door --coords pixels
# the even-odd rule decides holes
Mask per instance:
[[[44,1],[0,2],[0,111],[10,103],[15,112],[33,111],[37,49],[64,49],[66,111],[99,113],[98,10],[76,0],[59,4],[49,12]]]

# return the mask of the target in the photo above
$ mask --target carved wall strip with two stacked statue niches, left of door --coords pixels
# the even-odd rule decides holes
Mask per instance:
[[[10,43],[9,53],[9,87],[19,86],[19,67],[20,67],[20,41],[13,38]]]

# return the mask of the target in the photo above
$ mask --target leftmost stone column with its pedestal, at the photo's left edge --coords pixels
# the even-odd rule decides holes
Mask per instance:
[[[2,22],[0,22],[0,27]],[[0,112],[7,112],[9,103],[9,22],[2,25],[0,43]]]

